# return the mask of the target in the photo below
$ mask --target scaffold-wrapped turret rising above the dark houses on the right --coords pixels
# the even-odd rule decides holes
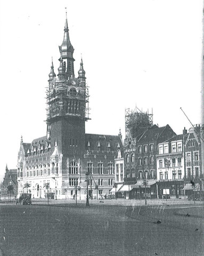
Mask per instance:
[[[135,137],[138,129],[143,127],[150,127],[153,125],[153,111],[149,114],[149,111],[143,112],[137,107],[134,110],[127,108],[125,110],[125,133],[126,137],[131,134]]]

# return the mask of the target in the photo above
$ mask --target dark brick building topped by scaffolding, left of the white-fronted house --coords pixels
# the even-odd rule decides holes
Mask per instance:
[[[126,111],[126,129],[124,182],[125,185],[131,185],[131,188],[126,186],[126,194],[130,191],[131,198],[143,197],[143,180],[148,180],[148,196],[156,198],[157,145],[176,134],[169,125],[153,125],[152,114],[137,111]]]

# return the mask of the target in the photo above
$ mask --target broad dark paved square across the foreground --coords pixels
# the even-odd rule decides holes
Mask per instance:
[[[200,202],[104,202],[0,204],[0,255],[204,255]]]

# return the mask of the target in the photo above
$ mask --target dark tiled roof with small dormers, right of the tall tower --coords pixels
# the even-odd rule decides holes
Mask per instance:
[[[117,151],[118,143],[120,145],[120,148],[123,147],[122,142],[120,140],[120,137],[118,135],[104,135],[104,134],[85,134],[86,140],[85,140],[85,146],[86,150],[88,150],[88,142],[89,142],[89,150],[97,150],[98,145],[100,145],[101,151],[108,151],[108,148],[110,148],[110,151]],[[110,147],[109,147],[110,146]]]

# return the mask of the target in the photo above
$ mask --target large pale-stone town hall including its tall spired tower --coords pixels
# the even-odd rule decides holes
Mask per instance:
[[[123,151],[119,135],[87,134],[88,88],[81,59],[78,77],[74,73],[74,48],[69,38],[67,19],[60,46],[58,77],[53,63],[47,87],[47,132],[44,137],[24,143],[21,138],[18,156],[19,192],[26,191],[36,198],[55,193],[57,198],[86,197],[107,194],[115,182],[115,158]],[[96,186],[97,185],[97,186]]]

